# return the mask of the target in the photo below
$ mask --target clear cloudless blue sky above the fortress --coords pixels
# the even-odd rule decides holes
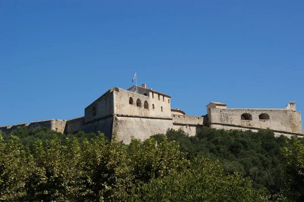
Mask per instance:
[[[0,126],[82,116],[109,88],[131,87],[135,71],[187,115],[205,115],[210,101],[296,101],[304,113],[303,10],[303,1],[0,0]]]

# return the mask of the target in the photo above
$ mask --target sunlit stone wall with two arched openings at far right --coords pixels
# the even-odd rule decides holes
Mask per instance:
[[[249,113],[252,120],[241,120],[243,113]],[[267,113],[270,119],[259,119],[261,113]],[[272,129],[278,131],[302,133],[300,112],[285,109],[220,109],[210,108],[209,124],[228,124],[241,127]]]

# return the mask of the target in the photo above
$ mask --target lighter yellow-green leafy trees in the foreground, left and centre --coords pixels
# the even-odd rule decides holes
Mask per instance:
[[[241,173],[227,174],[207,157],[187,160],[178,143],[164,136],[125,145],[103,134],[63,138],[35,129],[43,137],[54,135],[25,147],[23,130],[0,135],[2,201],[267,200]]]

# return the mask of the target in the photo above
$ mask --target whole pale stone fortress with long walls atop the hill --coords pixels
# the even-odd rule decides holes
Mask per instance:
[[[111,88],[85,108],[85,115],[69,120],[49,119],[30,124],[2,126],[0,130],[9,134],[18,127],[48,127],[64,134],[102,132],[111,139],[116,132],[118,141],[129,143],[131,136],[147,139],[151,135],[165,134],[167,129],[182,129],[194,136],[197,129],[207,126],[224,130],[271,129],[275,135],[304,136],[301,114],[295,102],[282,109],[229,109],[226,104],[210,102],[207,114],[185,115],[180,109],[171,108],[171,96],[146,88],[132,86],[124,90]]]

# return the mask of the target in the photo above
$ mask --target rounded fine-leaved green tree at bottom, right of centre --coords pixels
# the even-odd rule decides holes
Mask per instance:
[[[133,189],[128,201],[267,201],[265,190],[251,188],[249,178],[224,173],[218,161],[197,157],[189,169]]]

